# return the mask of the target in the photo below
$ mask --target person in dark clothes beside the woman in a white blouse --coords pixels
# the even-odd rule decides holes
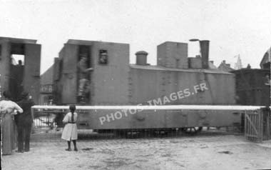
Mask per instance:
[[[18,129],[18,152],[22,153],[24,151],[29,151],[31,126],[33,122],[31,106],[34,106],[35,104],[26,92],[21,94],[21,98],[22,99],[18,104],[24,112],[16,116],[16,124]]]

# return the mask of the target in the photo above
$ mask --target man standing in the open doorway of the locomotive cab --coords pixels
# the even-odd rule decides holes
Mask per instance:
[[[86,92],[87,92],[87,87],[89,84],[88,81],[88,76],[89,72],[93,70],[93,68],[88,68],[88,63],[87,63],[87,55],[86,54],[81,54],[81,59],[77,64],[78,67],[78,76],[79,76],[79,86],[78,86],[78,101],[84,101],[86,98]]]

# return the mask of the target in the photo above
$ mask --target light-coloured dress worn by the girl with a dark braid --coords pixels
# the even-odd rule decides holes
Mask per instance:
[[[74,112],[73,115],[73,122],[77,121],[77,114]],[[76,124],[68,123],[71,122],[71,112],[66,114],[66,116],[63,119],[63,123],[66,123],[64,126],[64,129],[62,131],[61,139],[64,139],[66,141],[76,140],[78,133],[77,133],[77,126]]]

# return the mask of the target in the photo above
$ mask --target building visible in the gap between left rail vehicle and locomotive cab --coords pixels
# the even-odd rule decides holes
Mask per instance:
[[[53,66],[41,74],[40,104],[53,104]]]

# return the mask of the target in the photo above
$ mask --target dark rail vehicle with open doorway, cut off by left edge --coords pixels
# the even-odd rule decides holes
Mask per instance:
[[[1,91],[19,101],[23,91],[39,103],[41,45],[33,39],[0,37]]]

